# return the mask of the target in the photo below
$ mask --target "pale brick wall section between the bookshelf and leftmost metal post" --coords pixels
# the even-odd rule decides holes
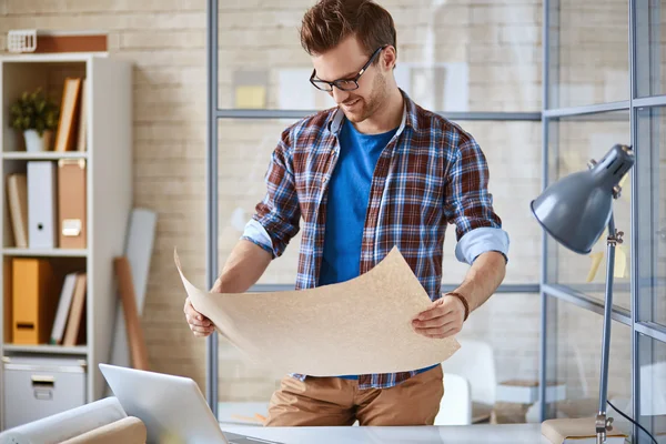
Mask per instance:
[[[158,211],[143,326],[151,367],[204,383],[204,342],[183,321],[189,276],[205,273],[205,1],[1,0],[0,46],[9,29],[103,29],[110,51],[134,63],[134,203]]]

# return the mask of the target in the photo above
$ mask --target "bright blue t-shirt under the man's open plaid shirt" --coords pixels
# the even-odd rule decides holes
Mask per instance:
[[[397,128],[381,134],[363,134],[345,120],[340,132],[340,157],[329,182],[324,254],[320,285],[357,278],[361,240],[374,169]],[[425,371],[432,367],[422,369]],[[355,375],[340,376],[357,379]]]

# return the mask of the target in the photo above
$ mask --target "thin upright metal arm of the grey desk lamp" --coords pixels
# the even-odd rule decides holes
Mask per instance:
[[[599,412],[596,418],[597,444],[606,442],[606,432],[613,427],[613,418],[606,417],[608,401],[608,360],[610,355],[610,322],[613,314],[613,279],[615,273],[615,246],[622,243],[623,232],[615,229],[613,212],[608,220],[608,238],[606,254],[606,295],[604,305],[604,332],[602,336],[602,369],[599,374]]]

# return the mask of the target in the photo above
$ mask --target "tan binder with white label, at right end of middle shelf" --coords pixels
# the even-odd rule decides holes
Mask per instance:
[[[58,161],[58,245],[61,249],[84,249],[85,160]]]

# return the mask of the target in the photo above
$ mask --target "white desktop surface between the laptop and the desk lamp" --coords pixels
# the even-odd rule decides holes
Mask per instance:
[[[537,424],[391,426],[391,427],[256,427],[222,425],[223,432],[284,444],[551,444]]]

